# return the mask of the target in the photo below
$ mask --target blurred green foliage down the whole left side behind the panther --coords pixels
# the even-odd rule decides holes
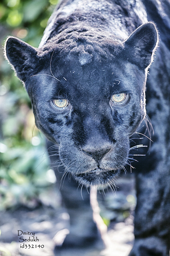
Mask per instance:
[[[38,47],[57,0],[2,0],[1,44],[7,35]],[[53,183],[45,138],[35,127],[30,99],[0,51],[0,210],[36,205]]]

